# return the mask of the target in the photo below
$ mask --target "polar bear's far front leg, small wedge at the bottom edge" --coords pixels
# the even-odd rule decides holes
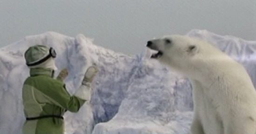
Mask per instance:
[[[191,124],[190,134],[204,134],[201,121],[199,121],[199,118],[196,115],[194,115],[194,119]]]

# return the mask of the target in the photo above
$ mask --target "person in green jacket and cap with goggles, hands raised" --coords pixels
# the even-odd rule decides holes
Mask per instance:
[[[97,73],[96,66],[86,71],[80,88],[71,96],[65,84],[54,79],[57,69],[54,63],[56,52],[45,45],[31,46],[25,52],[30,68],[22,87],[22,99],[26,121],[23,134],[64,134],[63,115],[68,110],[78,112],[90,100],[91,83]]]

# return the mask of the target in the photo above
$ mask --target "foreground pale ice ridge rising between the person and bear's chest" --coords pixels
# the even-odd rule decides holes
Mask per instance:
[[[125,99],[118,113],[99,123],[93,134],[181,134],[189,131],[192,95],[187,79],[177,77],[156,61],[149,51],[138,55]]]

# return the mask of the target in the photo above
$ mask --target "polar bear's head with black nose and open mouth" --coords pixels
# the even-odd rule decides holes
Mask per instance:
[[[201,71],[202,60],[209,56],[208,52],[204,51],[204,47],[208,46],[202,40],[182,35],[156,38],[149,40],[147,44],[148,48],[157,51],[151,58],[159,60],[160,63],[187,77],[195,76]]]

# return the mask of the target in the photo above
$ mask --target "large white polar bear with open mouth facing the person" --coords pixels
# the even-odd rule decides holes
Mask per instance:
[[[159,60],[192,84],[191,134],[255,134],[256,91],[241,64],[209,43],[170,35],[148,41]]]

